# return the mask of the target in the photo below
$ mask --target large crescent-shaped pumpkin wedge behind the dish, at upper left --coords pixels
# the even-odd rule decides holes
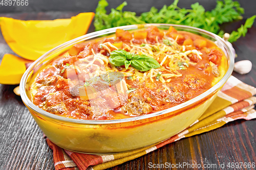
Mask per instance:
[[[93,17],[93,12],[55,20],[0,17],[0,26],[7,44],[16,54],[36,60],[53,47],[86,34]]]

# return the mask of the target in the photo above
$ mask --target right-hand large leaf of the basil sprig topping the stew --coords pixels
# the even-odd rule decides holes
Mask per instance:
[[[154,58],[148,57],[146,55],[134,56],[132,58],[131,65],[140,71],[147,71],[147,70],[150,70],[151,68],[160,67],[160,64],[158,63],[157,60],[155,60]]]

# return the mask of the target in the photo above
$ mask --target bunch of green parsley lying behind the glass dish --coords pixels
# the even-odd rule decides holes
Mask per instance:
[[[220,29],[222,23],[243,18],[241,15],[244,13],[244,9],[240,7],[237,1],[217,1],[216,8],[211,11],[205,11],[204,7],[199,3],[192,4],[191,9],[179,8],[177,6],[178,2],[179,0],[175,0],[170,6],[164,5],[159,11],[152,7],[149,12],[136,16],[135,12],[122,11],[123,7],[127,5],[126,2],[116,9],[112,8],[111,13],[106,14],[105,7],[109,4],[106,0],[100,0],[95,13],[95,30],[138,23],[174,23],[201,28],[223,36],[224,31]],[[228,41],[234,42],[241,36],[245,36],[247,29],[252,27],[255,17],[256,15],[248,18],[244,25],[237,31],[233,31]]]

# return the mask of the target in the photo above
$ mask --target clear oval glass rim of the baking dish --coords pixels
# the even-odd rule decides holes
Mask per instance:
[[[123,119],[113,119],[113,120],[84,120],[84,119],[74,119],[74,118],[68,118],[68,117],[62,117],[59,115],[55,115],[52,113],[49,113],[45,110],[40,109],[39,107],[37,107],[36,105],[34,105],[28,98],[27,94],[26,94],[26,83],[27,83],[27,78],[32,70],[32,68],[42,59],[44,59],[45,57],[47,57],[47,55],[49,55],[50,53],[54,52],[55,50],[57,50],[58,48],[65,46],[67,44],[71,44],[72,42],[81,40],[83,38],[94,38],[94,37],[99,37],[100,35],[105,35],[105,34],[109,34],[109,33],[114,33],[116,31],[116,29],[123,29],[123,30],[133,30],[133,29],[142,29],[149,27],[149,26],[174,26],[174,27],[179,27],[179,28],[184,28],[184,29],[190,29],[193,31],[196,31],[198,33],[203,33],[206,34],[218,41],[220,41],[227,49],[227,59],[229,56],[229,67],[226,71],[226,74],[223,76],[223,78],[214,86],[212,86],[210,89],[208,89],[207,91],[203,92],[202,94],[196,96],[195,98],[188,100],[182,104],[179,104],[177,106],[165,109],[165,110],[161,110],[155,113],[151,113],[151,114],[145,114],[142,116],[136,116],[136,117],[130,117],[130,118],[123,118]],[[89,39],[91,39],[89,38]],[[24,104],[29,107],[31,110],[35,111],[36,114],[42,114],[44,116],[47,116],[49,118],[53,118],[55,120],[60,120],[62,122],[67,122],[67,123],[78,123],[78,124],[90,124],[90,125],[99,125],[99,124],[117,124],[117,123],[127,123],[127,122],[133,122],[136,120],[141,120],[141,119],[147,119],[147,118],[151,118],[151,117],[155,117],[155,116],[159,116],[165,113],[169,113],[169,112],[173,112],[176,110],[179,110],[181,108],[184,108],[186,106],[189,106],[193,103],[196,103],[198,101],[200,101],[201,99],[206,98],[206,96],[208,96],[209,94],[211,94],[212,92],[216,91],[217,89],[219,89],[227,80],[228,78],[231,76],[231,73],[233,71],[233,67],[234,67],[234,56],[233,56],[233,52],[231,51],[229,45],[226,44],[225,40],[222,39],[220,36],[208,32],[206,30],[203,29],[199,29],[199,28],[195,28],[195,27],[190,27],[190,26],[183,26],[183,25],[175,25],[175,24],[167,24],[167,23],[145,23],[145,24],[139,24],[139,25],[129,25],[129,26],[121,26],[121,27],[115,27],[115,28],[110,28],[110,29],[105,29],[105,30],[101,30],[101,31],[96,31],[96,32],[92,32],[80,37],[77,37],[75,39],[72,39],[70,41],[67,41],[65,43],[62,43],[58,46],[56,46],[55,48],[52,48],[52,50],[48,51],[47,53],[45,53],[44,55],[42,55],[41,57],[39,57],[36,61],[34,61],[29,68],[25,71],[22,79],[20,80],[20,96],[24,102]]]

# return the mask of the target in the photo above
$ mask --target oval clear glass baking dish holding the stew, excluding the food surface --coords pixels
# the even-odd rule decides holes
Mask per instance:
[[[209,90],[196,98],[159,112],[114,120],[81,120],[66,118],[46,112],[35,106],[28,97],[29,82],[43,65],[49,63],[74,44],[114,34],[116,29],[138,30],[150,26],[168,29],[173,26],[179,31],[188,31],[215,41],[227,58],[224,77]],[[93,32],[63,43],[37,59],[25,72],[20,81],[20,95],[42,132],[63,149],[90,154],[110,154],[130,151],[162,141],[193,124],[210,106],[218,91],[230,77],[234,66],[234,54],[230,46],[216,34],[208,31],[171,24],[143,24],[122,26]]]

